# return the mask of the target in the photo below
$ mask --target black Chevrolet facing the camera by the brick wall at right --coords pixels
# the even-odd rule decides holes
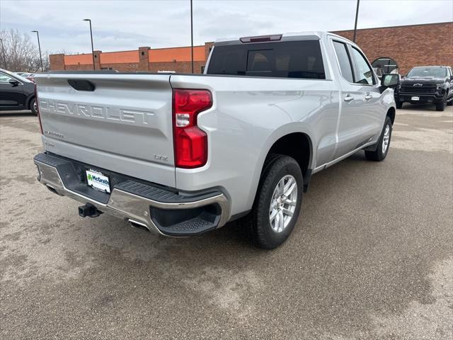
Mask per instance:
[[[453,70],[449,66],[414,67],[395,89],[396,108],[403,103],[433,103],[437,111],[453,104]]]

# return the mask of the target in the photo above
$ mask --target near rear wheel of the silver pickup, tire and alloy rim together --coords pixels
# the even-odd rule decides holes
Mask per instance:
[[[263,249],[280,246],[296,225],[302,203],[302,171],[281,154],[268,157],[251,213],[242,222],[254,244]]]

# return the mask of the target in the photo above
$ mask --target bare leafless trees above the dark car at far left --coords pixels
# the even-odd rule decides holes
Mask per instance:
[[[27,33],[19,33],[18,30],[1,30],[0,38],[3,41],[5,55],[0,54],[1,66],[4,67],[6,59],[6,69],[12,72],[40,72],[40,53],[38,47],[30,39]],[[44,70],[49,69],[49,54],[42,54],[42,64]]]

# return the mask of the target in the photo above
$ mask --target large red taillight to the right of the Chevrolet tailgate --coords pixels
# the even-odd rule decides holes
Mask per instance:
[[[197,168],[207,162],[207,135],[197,127],[198,113],[212,106],[208,90],[173,89],[175,165]]]

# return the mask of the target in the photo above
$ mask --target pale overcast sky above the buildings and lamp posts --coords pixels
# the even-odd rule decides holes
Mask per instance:
[[[354,28],[356,0],[193,0],[194,44],[217,38]],[[0,29],[40,31],[42,50],[190,45],[190,1],[0,0]],[[362,0],[358,28],[453,21],[453,0]],[[31,33],[34,34],[34,33]],[[34,38],[34,37],[33,37]]]

